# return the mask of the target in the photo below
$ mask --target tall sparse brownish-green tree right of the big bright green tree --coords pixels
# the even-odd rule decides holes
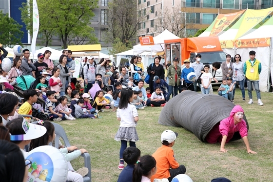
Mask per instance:
[[[136,40],[137,25],[142,22],[137,18],[137,0],[113,0],[108,3],[109,30],[104,35],[106,42],[114,43],[119,39],[130,44]]]

